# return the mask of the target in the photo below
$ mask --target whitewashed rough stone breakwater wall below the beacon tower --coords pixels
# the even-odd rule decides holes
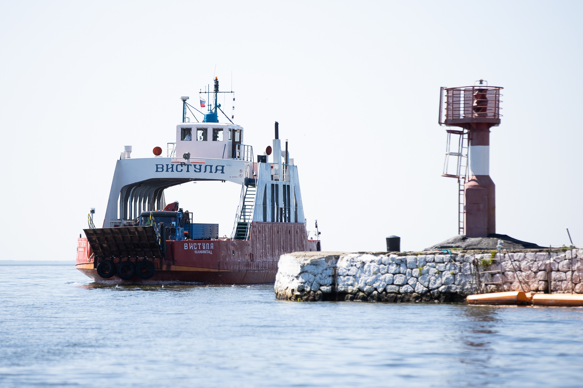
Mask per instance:
[[[583,249],[295,252],[279,258],[280,300],[463,301],[470,294],[583,293]]]

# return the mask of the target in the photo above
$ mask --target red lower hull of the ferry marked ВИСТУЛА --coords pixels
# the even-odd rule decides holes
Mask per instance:
[[[166,259],[154,259],[156,272],[147,280],[138,276],[122,280],[117,275],[101,278],[96,270],[99,259],[93,260],[87,239],[79,239],[76,268],[94,281],[108,284],[274,283],[282,254],[315,251],[315,241],[308,242],[303,223],[252,222],[251,228],[248,241],[167,241]],[[114,262],[125,259],[114,258]]]

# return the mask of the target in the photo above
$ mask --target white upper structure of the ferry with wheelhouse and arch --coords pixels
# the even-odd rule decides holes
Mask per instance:
[[[235,124],[181,123],[166,158],[132,159],[125,152],[115,165],[103,226],[131,225],[142,211],[166,206],[165,188],[205,180],[241,184],[233,236],[252,221],[304,222],[297,166],[289,158],[285,164],[280,140],[273,140],[271,162],[269,156],[267,163],[257,162],[243,133]],[[241,240],[248,239],[248,230]]]

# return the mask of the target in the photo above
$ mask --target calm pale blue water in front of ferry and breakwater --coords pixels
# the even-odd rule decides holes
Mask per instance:
[[[0,266],[0,386],[581,387],[583,308],[276,301]]]

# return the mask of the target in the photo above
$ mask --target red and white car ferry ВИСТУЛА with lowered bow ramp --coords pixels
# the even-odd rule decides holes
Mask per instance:
[[[219,80],[202,93],[214,106],[203,113],[181,97],[182,122],[166,157],[160,147],[150,158],[131,158],[129,146],[121,153],[103,227],[90,216],[86,237],[78,239],[76,268],[95,282],[273,283],[280,255],[320,250],[318,236],[308,240],[298,169],[287,141],[282,150],[278,123],[272,146],[255,159],[243,127],[217,104]],[[189,122],[191,108],[202,122]],[[219,122],[220,113],[228,122]],[[219,237],[218,224],[197,223],[180,202],[167,204],[164,195],[178,184],[219,180],[241,185],[230,237]]]

